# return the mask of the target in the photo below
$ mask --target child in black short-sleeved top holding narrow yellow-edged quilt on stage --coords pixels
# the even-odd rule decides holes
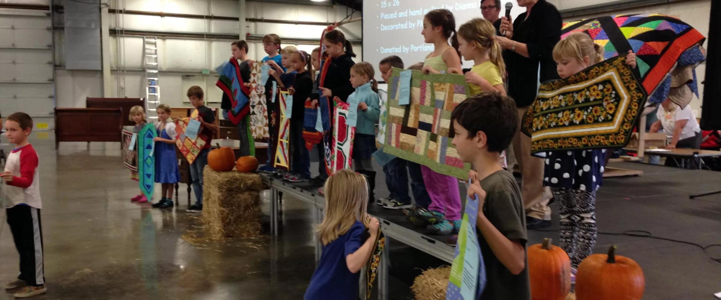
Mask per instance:
[[[292,171],[288,181],[308,181],[311,178],[311,158],[303,138],[303,120],[305,115],[306,99],[313,91],[313,67],[311,55],[303,50],[291,53],[289,58],[291,68],[297,72],[296,81],[291,88],[293,95],[293,113],[291,115],[291,152],[293,153]]]

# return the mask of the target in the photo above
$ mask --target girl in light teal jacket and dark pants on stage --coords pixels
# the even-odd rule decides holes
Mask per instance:
[[[376,122],[381,115],[381,106],[378,96],[378,82],[376,81],[373,65],[362,62],[350,68],[350,84],[355,91],[348,96],[348,102],[358,101],[358,117],[355,122],[355,139],[353,139],[353,165],[355,171],[368,177],[370,188],[369,196],[375,201],[373,190],[376,189],[376,171],[373,171],[371,155],[376,150]]]

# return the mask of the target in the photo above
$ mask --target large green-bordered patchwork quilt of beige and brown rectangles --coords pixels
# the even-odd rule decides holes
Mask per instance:
[[[393,68],[389,83],[384,152],[466,179],[471,165],[451,145],[451,112],[470,96],[466,78],[412,71],[410,104],[398,105],[400,71]]]

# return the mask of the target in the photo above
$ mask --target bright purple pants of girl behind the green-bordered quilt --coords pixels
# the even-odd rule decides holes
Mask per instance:
[[[423,173],[425,189],[430,196],[428,210],[446,214],[448,221],[461,219],[461,194],[458,190],[458,179],[435,171],[425,165],[420,166]]]

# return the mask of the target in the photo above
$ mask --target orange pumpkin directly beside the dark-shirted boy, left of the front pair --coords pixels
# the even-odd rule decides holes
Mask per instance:
[[[571,290],[571,260],[551,239],[528,247],[532,300],[564,300]]]

